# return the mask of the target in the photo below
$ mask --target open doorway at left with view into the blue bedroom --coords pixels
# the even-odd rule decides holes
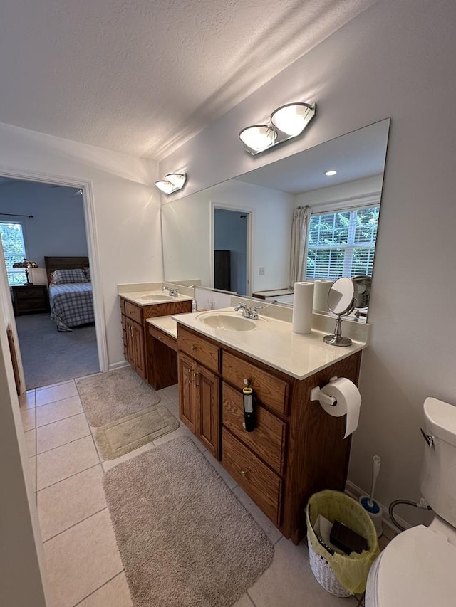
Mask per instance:
[[[100,371],[83,197],[81,187],[0,178],[2,263],[14,311],[10,324],[16,329],[26,390]],[[58,260],[56,268],[63,270],[66,260],[68,269],[74,268],[74,263],[81,265],[80,273],[71,280],[76,280],[77,288],[90,292],[81,304],[86,311],[82,315],[74,312],[67,326],[66,317],[63,326],[58,315],[51,317],[45,258]],[[67,289],[71,287],[63,287]],[[74,300],[66,305],[72,308]],[[90,305],[91,315],[87,312]],[[58,324],[63,330],[58,330]]]

